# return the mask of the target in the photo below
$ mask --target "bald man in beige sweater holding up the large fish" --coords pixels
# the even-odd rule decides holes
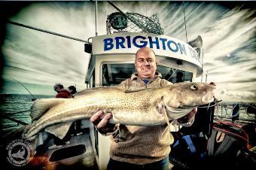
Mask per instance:
[[[148,47],[136,53],[135,67],[137,73],[124,80],[118,86],[123,90],[145,89],[171,84],[161,79],[156,72],[157,62],[154,51]],[[197,109],[178,120],[193,123]],[[110,160],[107,170],[117,169],[157,169],[167,170],[169,166],[170,144],[173,137],[169,132],[163,133],[166,125],[159,126],[125,126],[108,123],[111,113],[97,111],[91,121],[102,135],[111,135]]]

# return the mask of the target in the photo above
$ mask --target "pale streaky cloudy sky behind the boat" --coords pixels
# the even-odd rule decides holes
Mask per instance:
[[[3,2],[0,2],[0,5]],[[6,3],[6,2],[5,2]],[[9,2],[15,5],[17,2]],[[122,11],[147,17],[158,13],[164,35],[186,41],[182,2],[114,2]],[[29,2],[17,5],[8,20],[88,40],[95,36],[95,2]],[[252,2],[184,2],[187,39],[203,38],[203,81],[217,84],[216,97],[226,102],[256,102],[256,8]],[[8,7],[11,7],[8,5]],[[12,10],[11,8],[8,10]],[[98,2],[98,35],[116,10]],[[84,43],[6,24],[2,40],[1,93],[56,95],[55,83],[65,87],[84,83],[90,55]],[[14,80],[15,79],[15,80]],[[200,81],[198,77],[196,81]]]

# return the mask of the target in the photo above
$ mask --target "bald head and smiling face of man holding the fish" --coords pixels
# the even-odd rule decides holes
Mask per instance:
[[[157,70],[156,56],[150,48],[139,50],[136,55],[135,68],[142,79],[151,79]]]

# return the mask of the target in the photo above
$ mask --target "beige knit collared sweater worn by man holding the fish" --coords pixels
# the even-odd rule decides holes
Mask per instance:
[[[137,74],[124,80],[119,87],[124,90],[162,87],[172,84],[156,75],[145,85]],[[130,162],[144,165],[156,162],[169,155],[170,144],[173,137],[169,132],[163,134],[167,125],[160,126],[124,126],[119,125],[118,130],[111,135],[110,157],[120,162]],[[163,134],[163,136],[162,136]]]

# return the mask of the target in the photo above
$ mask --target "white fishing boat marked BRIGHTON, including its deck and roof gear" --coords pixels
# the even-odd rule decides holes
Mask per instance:
[[[134,58],[136,51],[141,47],[150,47],[154,50],[157,56],[157,71],[163,75],[163,78],[172,83],[194,81],[196,77],[203,74],[203,39],[200,35],[191,41],[184,42],[163,35],[163,28],[160,26],[157,14],[152,17],[145,17],[142,14],[123,13],[119,8],[117,8],[117,11],[107,17],[106,35],[96,35],[91,38],[89,43],[84,44],[85,53],[90,53],[90,62],[85,78],[88,89],[116,86],[130,77],[135,70]],[[221,115],[223,115],[223,110],[225,110],[223,109],[224,102],[219,103],[221,102],[215,101],[211,104],[211,107],[206,105],[198,108],[199,112],[202,112],[201,114],[207,115],[203,122],[209,125],[209,128],[205,128],[205,131],[199,129],[200,126],[197,123],[194,125],[197,127],[190,130],[173,124],[170,132],[175,134],[175,143],[172,145],[175,149],[172,153],[177,153],[178,156],[172,153],[169,155],[170,165],[189,169],[195,167],[187,159],[194,162],[205,160],[209,147],[197,147],[207,145],[212,132],[216,131],[218,123],[223,122],[221,119],[230,118],[219,117],[219,111],[222,110]],[[236,104],[233,103],[232,107]],[[237,105],[242,106],[242,104]],[[248,106],[246,109],[248,109]],[[254,107],[254,105],[251,105],[251,108]],[[255,114],[254,110],[252,114]],[[232,122],[232,117],[229,121]],[[101,135],[89,120],[81,120],[79,127],[76,123],[72,126],[75,131],[70,133],[69,143],[62,144],[59,147],[51,148],[53,137],[51,138],[47,132],[40,132],[34,145],[34,160],[32,159],[28,165],[43,169],[56,169],[56,167],[84,169],[86,167],[105,170],[109,159],[110,138]],[[234,121],[233,123],[235,124]],[[255,120],[244,122],[245,124],[255,125]],[[233,127],[233,125],[230,125],[230,127]],[[239,131],[242,126],[236,126],[236,128]],[[190,144],[187,143],[187,138],[190,138],[192,143],[194,142],[194,146],[191,145],[191,142]],[[251,147],[255,145],[255,143],[251,143]],[[194,150],[191,148],[194,148]],[[239,156],[245,157],[247,155],[250,157],[249,159],[245,158],[244,161],[248,164],[248,167],[255,165],[255,162],[253,162],[255,152],[249,151],[249,147],[243,149],[245,150],[239,150],[241,152]],[[183,156],[178,154],[181,151]],[[184,156],[187,158],[184,158]],[[206,162],[211,161],[212,159],[208,159]],[[203,165],[206,165],[206,162]],[[240,162],[239,167],[244,165],[244,162]],[[206,168],[206,166],[202,167]]]

